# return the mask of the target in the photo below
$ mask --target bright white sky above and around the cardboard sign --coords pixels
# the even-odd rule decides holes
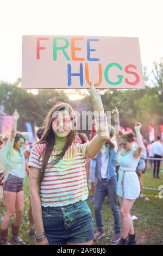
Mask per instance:
[[[136,36],[150,72],[163,57],[162,0],[1,0],[0,80],[21,77],[22,35]]]

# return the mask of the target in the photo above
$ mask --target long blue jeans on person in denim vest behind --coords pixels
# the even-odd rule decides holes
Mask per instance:
[[[103,179],[102,181],[99,181],[99,180],[97,181],[96,190],[95,190],[94,211],[95,211],[96,225],[97,225],[98,231],[104,230],[101,209],[102,209],[104,199],[108,194],[112,214],[114,217],[114,231],[115,231],[115,234],[120,233],[120,228],[121,228],[120,208],[118,206],[116,190],[117,190],[116,176],[113,176],[108,181],[106,179]]]

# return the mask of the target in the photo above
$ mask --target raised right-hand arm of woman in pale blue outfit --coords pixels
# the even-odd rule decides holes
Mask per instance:
[[[142,126],[141,123],[136,123],[135,124],[136,142],[137,142],[137,145],[138,145],[138,148],[134,152],[135,159],[140,157],[142,149],[145,148],[145,145],[143,143],[142,136],[141,136],[141,133],[140,133],[141,126]]]

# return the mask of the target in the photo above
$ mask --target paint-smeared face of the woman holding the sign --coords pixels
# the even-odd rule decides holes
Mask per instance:
[[[52,114],[52,129],[56,136],[64,138],[69,135],[72,129],[72,121],[68,111],[63,109],[57,114]]]

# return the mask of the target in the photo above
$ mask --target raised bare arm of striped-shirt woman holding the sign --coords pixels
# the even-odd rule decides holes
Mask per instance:
[[[95,135],[95,137],[93,137],[91,141],[87,144],[86,154],[89,157],[95,157],[103,147],[106,139],[109,138],[109,131],[103,103],[101,100],[101,95],[99,93],[99,89],[96,89],[93,83],[91,84],[91,88],[89,89],[89,94],[91,96],[95,111],[94,113],[97,135]],[[100,123],[98,123],[97,120],[99,120]]]

